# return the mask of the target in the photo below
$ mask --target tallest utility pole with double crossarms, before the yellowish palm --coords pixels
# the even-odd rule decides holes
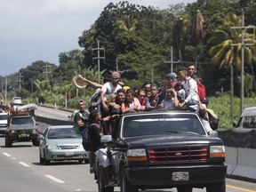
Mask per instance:
[[[242,114],[244,110],[244,45],[253,45],[253,44],[244,44],[244,31],[245,29],[251,28],[253,29],[253,39],[254,41],[254,34],[255,34],[255,27],[244,27],[244,9],[242,9],[242,27],[231,27],[231,28],[239,28],[242,29],[242,43],[238,44],[231,44],[233,46],[242,45],[241,49],[241,91],[240,91],[240,114]]]

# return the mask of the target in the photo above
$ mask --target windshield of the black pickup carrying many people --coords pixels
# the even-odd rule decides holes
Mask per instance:
[[[123,137],[157,134],[204,135],[204,128],[195,114],[154,114],[125,116]]]

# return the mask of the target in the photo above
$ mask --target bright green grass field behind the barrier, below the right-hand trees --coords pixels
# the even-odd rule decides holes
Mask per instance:
[[[219,128],[232,128],[231,101],[228,93],[220,94],[218,97],[209,97],[209,106],[220,117]],[[254,98],[244,98],[244,108],[256,106]],[[240,117],[240,98],[234,98],[233,106],[234,122],[237,124]]]

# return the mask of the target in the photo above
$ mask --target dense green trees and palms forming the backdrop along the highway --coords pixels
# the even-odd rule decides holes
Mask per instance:
[[[168,60],[172,57],[174,72],[188,63],[196,63],[212,98],[219,97],[220,90],[230,92],[230,66],[233,66],[234,92],[239,97],[242,30],[232,27],[242,26],[242,8],[244,26],[255,26],[255,6],[256,0],[197,0],[187,5],[172,4],[166,10],[127,1],[110,3],[92,27],[78,37],[82,50],[60,52],[58,66],[38,60],[21,68],[19,73],[8,76],[6,90],[10,98],[19,94],[32,101],[37,98],[60,106],[68,102],[68,107],[76,107],[77,98],[89,100],[94,90],[89,86],[76,90],[71,82],[76,74],[98,82],[100,73],[102,84],[104,76],[118,69],[130,86],[144,82],[157,84],[170,72]],[[251,28],[244,33],[245,42],[253,44],[245,48],[246,97],[255,96],[256,87],[253,32]],[[21,86],[17,81],[19,76]],[[4,77],[0,78],[4,83]],[[5,84],[2,92],[4,89]]]

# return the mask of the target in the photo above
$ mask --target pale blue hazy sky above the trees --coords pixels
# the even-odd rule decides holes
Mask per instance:
[[[121,0],[1,0],[0,76],[27,68],[36,60],[59,66],[60,52],[82,49],[78,37],[110,2]],[[196,0],[129,0],[160,9]]]

